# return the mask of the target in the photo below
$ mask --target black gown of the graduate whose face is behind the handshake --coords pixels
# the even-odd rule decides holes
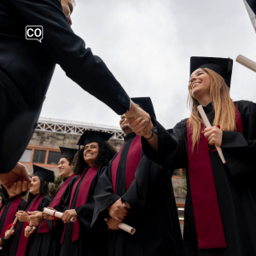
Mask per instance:
[[[126,160],[134,132],[125,136],[119,159],[116,194],[113,194],[112,164],[102,174],[96,193],[93,222],[108,215],[107,207],[120,197],[131,206],[124,223],[136,229],[131,236],[123,230],[109,231],[109,256],[182,255],[182,236],[172,189],[172,171],[163,169],[142,152],[135,179],[126,191]]]

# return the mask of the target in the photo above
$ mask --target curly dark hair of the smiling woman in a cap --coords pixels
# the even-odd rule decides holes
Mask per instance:
[[[108,142],[98,143],[99,145],[99,154],[96,157],[94,167],[98,168],[101,166],[108,166],[110,160],[113,159],[113,156],[117,153],[116,149]],[[84,172],[84,169],[88,164],[84,160],[84,148],[80,149],[80,156],[78,153],[75,155],[73,160],[73,173],[76,175],[81,175]]]

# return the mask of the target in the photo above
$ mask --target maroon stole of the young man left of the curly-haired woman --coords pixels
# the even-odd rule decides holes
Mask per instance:
[[[65,190],[67,189],[67,185],[70,182],[70,180],[75,177],[76,175],[71,175],[67,178],[65,183],[62,183],[60,187],[55,192],[55,195],[53,196],[52,200],[49,202],[49,207],[54,208],[55,206],[58,206],[61,202],[61,197]],[[48,233],[49,232],[49,226],[47,225],[46,221],[44,220],[43,223],[40,226],[40,229],[38,230],[39,233]]]

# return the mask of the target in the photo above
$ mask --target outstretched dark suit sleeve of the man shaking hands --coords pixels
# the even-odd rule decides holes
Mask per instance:
[[[84,40],[73,32],[59,1],[9,0],[9,4],[15,15],[27,25],[44,27],[42,50],[61,66],[70,79],[115,113],[123,114],[130,109],[129,96],[101,58],[86,49]],[[25,40],[24,44],[30,42]]]

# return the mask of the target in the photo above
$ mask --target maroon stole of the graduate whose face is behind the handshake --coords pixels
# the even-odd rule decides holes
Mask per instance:
[[[120,148],[119,154],[117,154],[116,158],[113,160],[113,163],[112,163],[112,183],[113,183],[114,194],[116,194],[116,177],[117,177],[117,171],[119,167],[119,160],[120,160],[122,148]],[[135,172],[141,160],[142,148],[143,147],[142,147],[141,137],[137,135],[131,143],[131,146],[128,151],[127,159],[126,159],[126,170],[125,170],[126,190],[129,189],[131,182],[135,179]]]

